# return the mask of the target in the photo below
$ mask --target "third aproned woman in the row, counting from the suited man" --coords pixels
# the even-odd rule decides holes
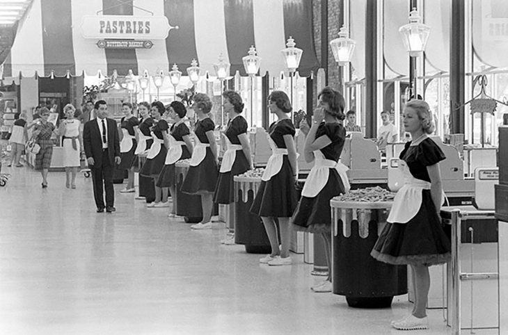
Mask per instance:
[[[169,125],[168,122],[162,118],[164,111],[165,108],[161,101],[152,102],[150,113],[154,119],[154,125],[151,129],[153,144],[150,147],[148,156],[146,156],[147,159],[145,164],[143,164],[143,168],[141,168],[139,172],[143,177],[153,178],[154,182],[159,178],[159,174],[166,161],[166,154],[168,153],[168,149],[164,143],[168,140]],[[155,200],[146,206],[149,208],[168,207],[168,188],[155,186]]]

